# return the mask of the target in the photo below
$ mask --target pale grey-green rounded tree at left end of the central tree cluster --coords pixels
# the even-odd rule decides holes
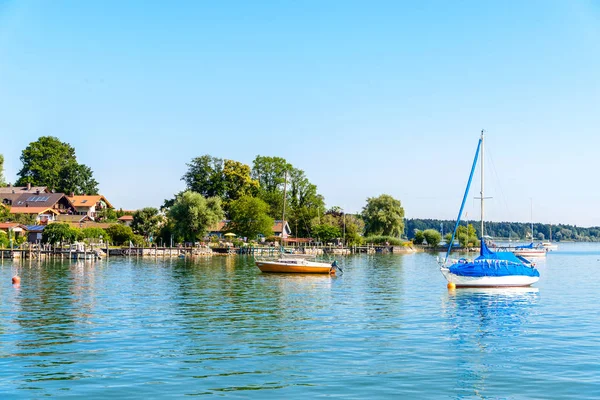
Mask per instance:
[[[221,199],[204,198],[200,193],[183,192],[169,209],[174,232],[184,240],[202,239],[211,226],[224,218]]]

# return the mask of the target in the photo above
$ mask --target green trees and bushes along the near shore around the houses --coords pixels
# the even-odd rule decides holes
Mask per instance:
[[[23,167],[15,182],[17,186],[30,183],[66,194],[98,193],[91,168],[80,164],[75,149],[56,137],[44,136],[30,143],[20,159]],[[0,185],[5,184],[2,161]],[[258,155],[250,166],[203,155],[186,166],[181,177],[186,184],[184,191],[166,199],[159,208],[148,207],[133,214],[131,228],[132,234],[139,236],[136,239],[147,243],[196,242],[223,220],[228,222],[222,233],[231,232],[250,240],[269,238],[274,234],[275,221],[282,218],[288,223],[291,236],[324,243],[336,239],[343,239],[348,245],[359,245],[365,240],[390,242],[399,240],[404,233],[400,200],[386,194],[367,198],[358,214],[346,213],[337,206],[326,208],[324,197],[305,172],[281,157]],[[105,209],[98,219],[113,222],[119,216],[117,211]],[[24,217],[0,210],[0,219],[11,218],[16,221]],[[64,232],[58,237],[77,236],[61,229]],[[105,237],[112,235],[105,232]]]

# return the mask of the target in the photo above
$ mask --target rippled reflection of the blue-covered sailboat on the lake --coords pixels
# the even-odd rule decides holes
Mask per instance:
[[[524,356],[522,339],[535,315],[539,289],[465,288],[449,290],[443,301],[449,340],[457,358],[459,398],[484,398],[491,372],[514,374]],[[501,360],[501,361],[500,361]],[[509,378],[509,376],[507,377]],[[494,378],[497,379],[497,378]]]

